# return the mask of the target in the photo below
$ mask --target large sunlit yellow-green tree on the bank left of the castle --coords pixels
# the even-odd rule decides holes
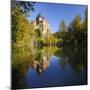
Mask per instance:
[[[35,31],[18,6],[13,6],[12,16],[12,45],[13,47],[32,46],[35,40]],[[16,48],[15,48],[16,49]]]

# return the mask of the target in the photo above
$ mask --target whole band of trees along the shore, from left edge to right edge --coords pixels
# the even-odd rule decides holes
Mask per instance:
[[[19,48],[32,48],[43,46],[75,46],[87,47],[87,8],[84,18],[79,15],[67,26],[65,21],[60,21],[58,32],[47,33],[43,38],[40,30],[34,30],[28,17],[34,12],[34,2],[12,1],[11,21],[12,21],[12,51]]]

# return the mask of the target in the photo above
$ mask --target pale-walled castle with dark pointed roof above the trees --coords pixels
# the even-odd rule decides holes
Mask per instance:
[[[40,13],[37,15],[36,20],[33,20],[31,23],[34,29],[41,30],[43,36],[46,36],[50,31],[49,23]]]

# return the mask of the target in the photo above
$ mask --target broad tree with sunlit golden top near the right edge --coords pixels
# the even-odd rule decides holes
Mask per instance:
[[[84,19],[82,21],[80,16],[76,16],[73,22],[68,27],[69,32],[71,33],[71,39],[73,39],[73,43],[76,46],[83,46],[86,44],[86,32],[87,32],[87,22]],[[84,40],[85,39],[85,40]]]

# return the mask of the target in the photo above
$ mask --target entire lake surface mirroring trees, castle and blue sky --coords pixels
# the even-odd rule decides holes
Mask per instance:
[[[12,55],[12,88],[86,84],[86,55],[76,47],[18,50]]]

